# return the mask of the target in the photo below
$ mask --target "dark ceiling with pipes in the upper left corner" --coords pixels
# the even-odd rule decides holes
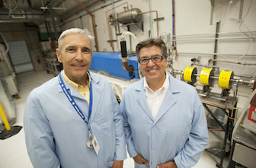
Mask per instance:
[[[104,0],[0,0],[0,23],[27,22],[37,20],[42,16],[58,17],[66,21],[73,14],[84,10],[77,2],[86,8]],[[40,18],[41,19],[41,18]]]

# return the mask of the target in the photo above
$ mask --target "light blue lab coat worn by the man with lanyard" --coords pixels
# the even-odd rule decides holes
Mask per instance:
[[[123,117],[112,87],[100,75],[90,74],[93,103],[89,122],[100,146],[98,156],[86,146],[88,125],[69,102],[56,77],[31,91],[24,110],[27,152],[35,168],[102,168],[111,167],[114,160],[126,159]],[[87,101],[63,77],[62,81],[88,120]]]

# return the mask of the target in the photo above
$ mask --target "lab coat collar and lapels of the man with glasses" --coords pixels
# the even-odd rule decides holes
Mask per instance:
[[[144,110],[144,112],[147,114],[147,116],[149,116],[149,118],[152,119],[152,121],[154,121],[154,125],[156,122],[158,122],[159,119],[162,118],[162,116],[164,116],[166,112],[168,112],[168,109],[170,109],[171,106],[174,106],[174,104],[178,100],[177,97],[181,92],[181,88],[179,87],[180,84],[178,84],[178,79],[175,79],[174,77],[172,77],[170,73],[167,73],[167,74],[168,74],[168,79],[170,81],[170,85],[165,94],[165,98],[162,101],[160,108],[158,109],[158,114],[155,117],[155,119],[152,116],[151,110],[149,108],[149,104],[146,100],[145,90],[143,87],[144,80],[143,79],[140,80],[135,87],[135,90],[139,91],[139,96],[137,97],[137,101],[139,105],[142,107],[142,109]]]

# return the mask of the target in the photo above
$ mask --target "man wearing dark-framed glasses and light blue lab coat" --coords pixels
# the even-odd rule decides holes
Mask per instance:
[[[171,76],[161,39],[137,44],[144,75],[126,88],[120,107],[127,149],[135,167],[191,167],[208,143],[206,116],[197,90]]]

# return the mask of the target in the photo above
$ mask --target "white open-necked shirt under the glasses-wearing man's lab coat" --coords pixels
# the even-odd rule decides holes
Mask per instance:
[[[165,94],[168,90],[168,87],[170,85],[170,81],[168,79],[168,73],[165,71],[165,82],[162,85],[162,87],[158,90],[155,90],[155,92],[149,88],[148,83],[146,82],[146,78],[144,78],[144,89],[145,89],[145,94],[146,94],[146,100],[149,103],[149,107],[151,109],[152,116],[156,117],[158,113],[158,109],[162,104],[162,100],[165,98]]]

